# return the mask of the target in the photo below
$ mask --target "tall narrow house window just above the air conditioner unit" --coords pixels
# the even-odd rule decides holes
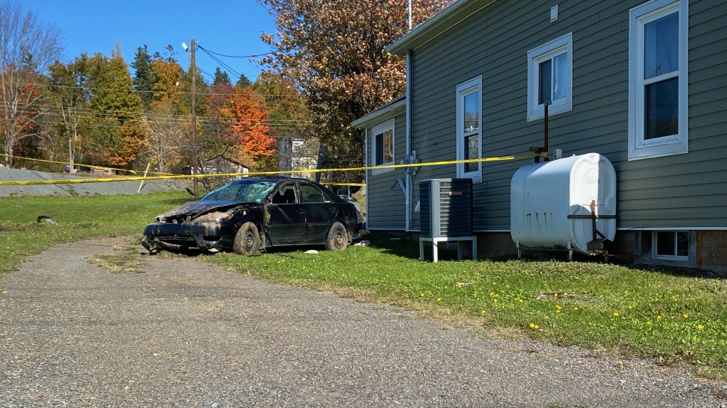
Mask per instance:
[[[482,77],[457,86],[457,160],[482,158]],[[482,182],[482,163],[457,163],[457,177]]]

